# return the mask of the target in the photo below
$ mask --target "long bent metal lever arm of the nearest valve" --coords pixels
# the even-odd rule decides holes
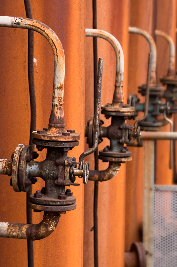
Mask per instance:
[[[103,69],[103,58],[99,57],[98,60],[98,78],[97,78],[97,99],[95,107],[95,121],[94,121],[94,135],[93,135],[93,146],[89,150],[84,151],[79,158],[79,170],[83,169],[84,158],[91,153],[95,152],[98,147],[98,134],[99,134],[99,123],[100,123],[100,104],[101,104],[101,91],[102,91],[102,69]]]

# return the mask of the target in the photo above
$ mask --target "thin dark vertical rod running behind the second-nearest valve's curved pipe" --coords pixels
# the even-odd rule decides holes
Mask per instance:
[[[92,0],[93,10],[93,29],[97,29],[97,0]],[[97,94],[97,37],[93,37],[93,64],[94,64],[94,110],[96,107]],[[98,149],[94,152],[95,170],[98,170]],[[93,203],[93,221],[94,221],[94,264],[98,267],[98,181],[94,183],[94,203]]]

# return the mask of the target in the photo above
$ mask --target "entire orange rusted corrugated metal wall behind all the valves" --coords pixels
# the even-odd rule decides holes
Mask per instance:
[[[25,17],[24,1],[1,0],[1,15]],[[33,18],[59,36],[66,59],[64,112],[67,128],[80,133],[79,146],[69,155],[78,160],[84,148],[84,125],[93,114],[93,45],[85,37],[92,28],[91,0],[31,0]],[[97,1],[97,28],[106,30],[120,42],[125,59],[124,94],[137,93],[146,81],[148,45],[142,36],[130,35],[128,26],[154,34],[154,25],[175,41],[176,0],[102,0]],[[27,74],[27,30],[1,28],[1,158],[10,158],[18,144],[29,143],[30,103]],[[157,37],[158,78],[166,74],[168,50]],[[112,101],[115,80],[115,53],[105,40],[98,40],[98,56],[104,57],[101,104]],[[34,57],[37,101],[37,129],[47,127],[53,88],[53,53],[47,40],[35,32]],[[86,69],[86,72],[85,72]],[[86,100],[86,101],[85,101]],[[101,115],[102,118],[102,115]],[[105,119],[104,119],[105,121]],[[109,125],[106,120],[104,126]],[[169,130],[169,126],[164,130]],[[99,146],[102,149],[108,140]],[[124,266],[124,250],[140,240],[142,222],[142,148],[131,148],[133,161],[122,165],[119,174],[99,183],[99,266]],[[164,150],[166,153],[164,153]],[[157,143],[158,183],[171,183],[168,168],[169,143]],[[45,158],[40,152],[39,160]],[[93,156],[88,157],[93,168]],[[159,162],[161,162],[159,164]],[[163,166],[163,168],[162,168]],[[100,161],[99,168],[107,163]],[[26,193],[16,193],[9,177],[1,176],[1,221],[26,221]],[[40,179],[39,179],[40,180]],[[79,180],[79,178],[78,178]],[[42,181],[33,191],[42,187]],[[61,215],[53,234],[34,242],[35,266],[94,266],[93,190],[94,182],[74,187],[77,208]],[[39,222],[42,214],[33,213]],[[126,230],[126,231],[125,231]],[[125,248],[124,248],[125,247]],[[1,238],[1,266],[27,266],[27,242]]]

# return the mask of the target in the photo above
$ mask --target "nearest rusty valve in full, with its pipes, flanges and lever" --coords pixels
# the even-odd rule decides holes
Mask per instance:
[[[75,176],[82,177],[85,184],[88,181],[89,165],[87,161],[84,163],[84,158],[93,153],[98,146],[103,58],[99,58],[98,66],[93,146],[83,152],[79,162],[76,162],[75,157],[67,156],[67,152],[79,144],[80,134],[75,133],[73,129],[65,130],[63,107],[65,57],[58,36],[49,27],[36,20],[3,16],[0,19],[1,27],[23,28],[41,33],[49,41],[54,54],[53,101],[48,128],[32,133],[32,142],[36,144],[37,150],[47,149],[46,159],[41,162],[34,161],[38,153],[33,152],[30,145],[19,144],[12,153],[11,160],[0,160],[0,174],[12,175],[10,185],[16,192],[28,192],[31,184],[37,182],[36,177],[41,177],[45,181],[45,187],[30,195],[29,201],[31,209],[36,212],[44,211],[44,219],[40,224],[0,222],[0,230],[3,229],[2,237],[36,240],[54,231],[60,214],[76,208],[76,198],[71,189],[65,191],[65,186],[79,185],[75,183]]]

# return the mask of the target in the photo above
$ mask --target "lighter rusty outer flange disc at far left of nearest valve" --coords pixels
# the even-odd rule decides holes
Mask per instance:
[[[18,172],[19,172],[19,159],[20,154],[23,148],[25,147],[24,144],[19,144],[14,152],[14,158],[12,162],[12,186],[14,191],[21,192],[19,185],[18,185]]]

